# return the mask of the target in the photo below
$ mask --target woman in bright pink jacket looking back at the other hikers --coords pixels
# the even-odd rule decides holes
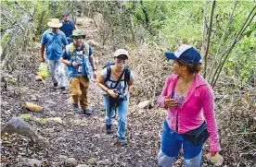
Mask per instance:
[[[165,55],[174,60],[174,74],[166,80],[158,99],[160,107],[167,110],[159,164],[162,167],[173,166],[183,148],[185,166],[199,167],[203,142],[209,136],[211,156],[221,150],[213,91],[210,84],[198,75],[202,59],[193,47],[183,44],[175,53]]]

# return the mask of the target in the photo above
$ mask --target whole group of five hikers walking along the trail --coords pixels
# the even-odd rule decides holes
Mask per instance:
[[[108,134],[113,133],[112,121],[118,115],[118,141],[127,145],[125,130],[129,108],[130,92],[134,87],[134,73],[127,66],[129,53],[118,49],[113,55],[113,63],[96,73],[93,49],[83,40],[82,30],[70,19],[68,12],[63,20],[52,18],[47,23],[41,40],[41,62],[47,64],[51,72],[53,89],[67,94],[65,66],[70,81],[72,109],[79,113],[80,107],[86,115],[92,114],[88,105],[90,79],[105,93],[105,125]],[[46,49],[46,52],[45,52]],[[198,51],[183,44],[174,53],[165,53],[173,59],[173,75],[167,78],[158,98],[160,107],[166,109],[161,146],[158,156],[162,167],[173,166],[180,149],[184,149],[185,166],[201,166],[203,144],[210,137],[211,156],[221,151],[218,127],[214,113],[214,95],[210,84],[198,72],[202,69],[202,59]]]

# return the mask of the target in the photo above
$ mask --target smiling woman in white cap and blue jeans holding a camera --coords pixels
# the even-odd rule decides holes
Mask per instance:
[[[105,67],[97,78],[97,85],[106,91],[105,122],[106,132],[113,133],[112,118],[118,110],[118,141],[121,145],[127,145],[125,130],[127,125],[127,113],[130,91],[134,86],[134,74],[127,67],[129,54],[124,49],[118,49],[114,54],[114,64]]]

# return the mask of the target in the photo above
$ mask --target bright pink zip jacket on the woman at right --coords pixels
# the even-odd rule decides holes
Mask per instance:
[[[165,97],[173,94],[178,78],[178,75],[172,75],[166,80],[158,99],[160,107],[165,108]],[[220,151],[218,127],[214,113],[213,90],[210,84],[197,74],[192,86],[187,92],[183,106],[168,108],[166,119],[168,125],[174,132],[184,134],[202,125],[204,117],[210,134],[210,151]],[[177,126],[176,123],[178,123]],[[178,131],[176,131],[176,128]]]

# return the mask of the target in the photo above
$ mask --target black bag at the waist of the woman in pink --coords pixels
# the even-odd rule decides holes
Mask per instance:
[[[198,128],[186,132],[183,136],[193,145],[199,146],[210,137],[210,134],[208,133],[206,122],[204,122]]]

